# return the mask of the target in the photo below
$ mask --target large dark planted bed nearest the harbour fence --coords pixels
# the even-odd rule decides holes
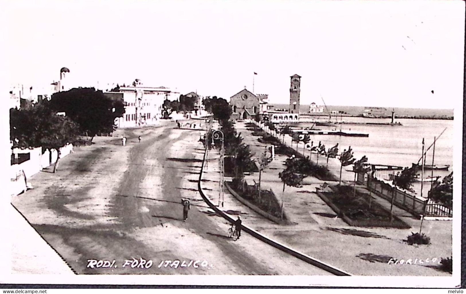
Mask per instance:
[[[318,192],[317,194],[350,226],[411,228],[396,216],[393,216],[393,221],[391,221],[390,211],[376,201],[372,201],[369,208],[369,193],[356,191],[353,196],[351,186],[337,185],[331,188],[331,192]]]

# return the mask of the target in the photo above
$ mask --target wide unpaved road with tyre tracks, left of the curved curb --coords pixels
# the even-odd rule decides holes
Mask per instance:
[[[250,236],[226,237],[197,191],[202,131],[165,123],[118,132],[126,146],[95,138],[12,199],[77,273],[328,274]],[[192,205],[186,222],[181,198]]]

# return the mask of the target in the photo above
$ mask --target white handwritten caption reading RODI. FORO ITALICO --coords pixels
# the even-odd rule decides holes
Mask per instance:
[[[117,261],[116,260],[96,260],[96,259],[89,259],[87,260],[88,268],[117,268]],[[121,267],[130,267],[130,268],[151,268],[154,265],[153,260],[146,260],[144,258],[136,259],[133,258],[132,260],[124,260],[121,264]],[[158,263],[158,268],[162,267],[207,267],[209,262],[207,260],[161,260]]]

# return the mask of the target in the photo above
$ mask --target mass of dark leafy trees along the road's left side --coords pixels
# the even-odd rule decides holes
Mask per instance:
[[[111,99],[94,88],[71,89],[52,95],[24,109],[10,109],[10,140],[13,148],[56,150],[86,135],[89,143],[99,133],[116,129],[115,118],[124,114],[123,100]]]

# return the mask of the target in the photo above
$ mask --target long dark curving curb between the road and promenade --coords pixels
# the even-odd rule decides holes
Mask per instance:
[[[204,158],[202,160],[202,166],[201,166],[201,171],[199,173],[199,181],[198,181],[198,189],[199,189],[199,193],[201,195],[201,197],[204,199],[204,201],[207,203],[207,205],[209,205],[209,207],[214,211],[216,212],[218,215],[220,215],[221,217],[223,217],[224,219],[228,220],[230,223],[233,224],[234,220],[228,216],[225,212],[222,212],[221,210],[219,210],[219,208],[217,206],[215,206],[209,198],[206,197],[206,195],[204,194],[204,191],[202,191],[202,187],[201,187],[201,182],[202,182],[202,175],[203,175],[203,172],[204,172],[204,164],[206,162],[206,156],[207,156],[207,149],[204,151]],[[304,254],[304,253],[301,253],[299,251],[296,251],[295,249],[292,249],[286,245],[283,245],[277,241],[274,241],[272,239],[269,239],[267,238],[266,236],[260,234],[259,232],[251,229],[250,227],[248,226],[245,226],[245,225],[241,225],[242,226],[242,229],[243,231],[247,232],[248,234],[250,234],[251,236],[253,236],[254,238],[257,238],[271,246],[274,246],[275,248],[277,249],[280,249],[281,251],[285,252],[285,253],[288,253],[288,254],[291,254],[293,256],[295,256],[296,258],[299,258],[300,260],[303,260],[315,267],[318,267],[318,268],[321,268],[323,269],[324,271],[327,271],[329,273],[333,273],[334,275],[337,275],[337,276],[351,276],[350,273],[348,272],[345,272],[341,269],[338,269],[336,267],[333,267],[329,264],[326,264],[320,260],[317,260],[307,254]]]

